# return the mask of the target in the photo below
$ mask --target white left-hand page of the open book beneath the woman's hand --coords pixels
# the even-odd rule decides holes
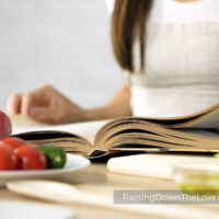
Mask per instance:
[[[66,125],[47,125],[35,122],[26,115],[15,115],[10,117],[10,119],[12,122],[12,135],[37,130],[60,130],[80,135],[92,143],[97,130],[108,122],[95,120]]]

